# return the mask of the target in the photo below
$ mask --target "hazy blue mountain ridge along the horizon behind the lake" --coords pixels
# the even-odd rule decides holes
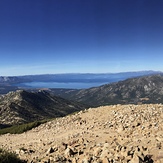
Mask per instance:
[[[87,80],[102,80],[106,81],[109,78],[128,78],[134,76],[143,76],[149,74],[158,74],[161,71],[137,71],[137,72],[119,72],[119,73],[65,73],[65,74],[40,74],[40,75],[24,75],[24,76],[0,76],[0,83],[21,83],[21,82],[32,82],[32,81],[78,81]]]

